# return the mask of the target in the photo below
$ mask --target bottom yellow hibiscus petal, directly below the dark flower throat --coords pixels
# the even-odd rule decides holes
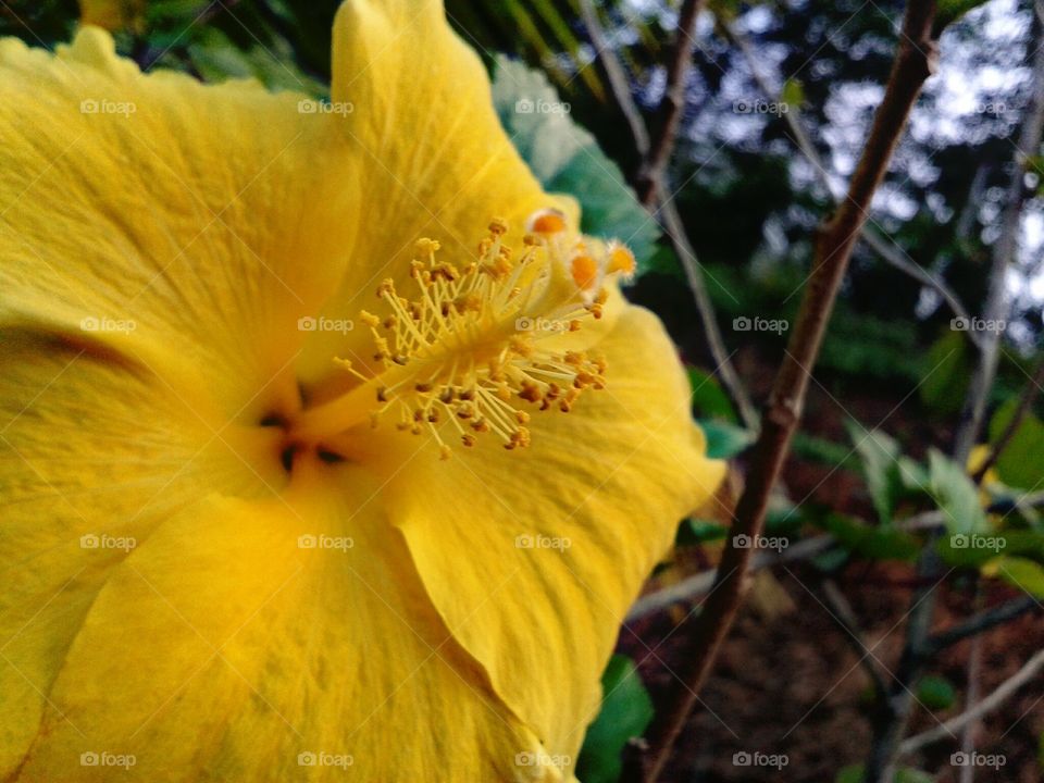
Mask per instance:
[[[150,782],[560,780],[517,763],[538,741],[431,608],[368,504],[378,485],[353,471],[344,489],[213,497],[134,550],[16,780],[112,780],[84,753],[134,757]]]

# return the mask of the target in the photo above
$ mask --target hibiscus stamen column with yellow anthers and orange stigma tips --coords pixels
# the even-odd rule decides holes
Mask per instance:
[[[630,274],[634,259],[621,245],[569,232],[551,210],[527,227],[514,258],[504,243],[507,225],[494,220],[477,259],[464,265],[440,260],[437,241],[419,240],[409,294],[386,279],[377,288],[383,314],[360,315],[377,371],[335,358],[360,383],[303,411],[291,437],[321,444],[394,419],[400,431],[434,437],[443,459],[450,436],[465,447],[488,435],[507,449],[524,448],[527,409],[569,412],[584,390],[604,388],[605,360],[570,350],[562,335],[601,316],[607,275]]]

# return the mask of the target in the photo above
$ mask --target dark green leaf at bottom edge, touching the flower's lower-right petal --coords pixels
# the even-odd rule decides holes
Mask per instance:
[[[576,760],[576,776],[584,783],[616,783],[623,748],[632,737],[642,736],[652,720],[652,699],[626,656],[610,659],[601,675],[601,710],[587,729]]]

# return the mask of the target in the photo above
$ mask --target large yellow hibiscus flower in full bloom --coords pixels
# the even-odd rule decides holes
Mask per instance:
[[[570,780],[722,475],[440,4],[335,25],[322,107],[0,41],[4,781]]]

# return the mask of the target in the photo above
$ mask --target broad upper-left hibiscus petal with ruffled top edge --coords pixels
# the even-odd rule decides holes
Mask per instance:
[[[299,349],[352,239],[334,119],[298,101],[144,76],[94,27],[57,57],[0,41],[0,323],[139,355],[239,410]],[[296,394],[287,375],[248,412]]]

